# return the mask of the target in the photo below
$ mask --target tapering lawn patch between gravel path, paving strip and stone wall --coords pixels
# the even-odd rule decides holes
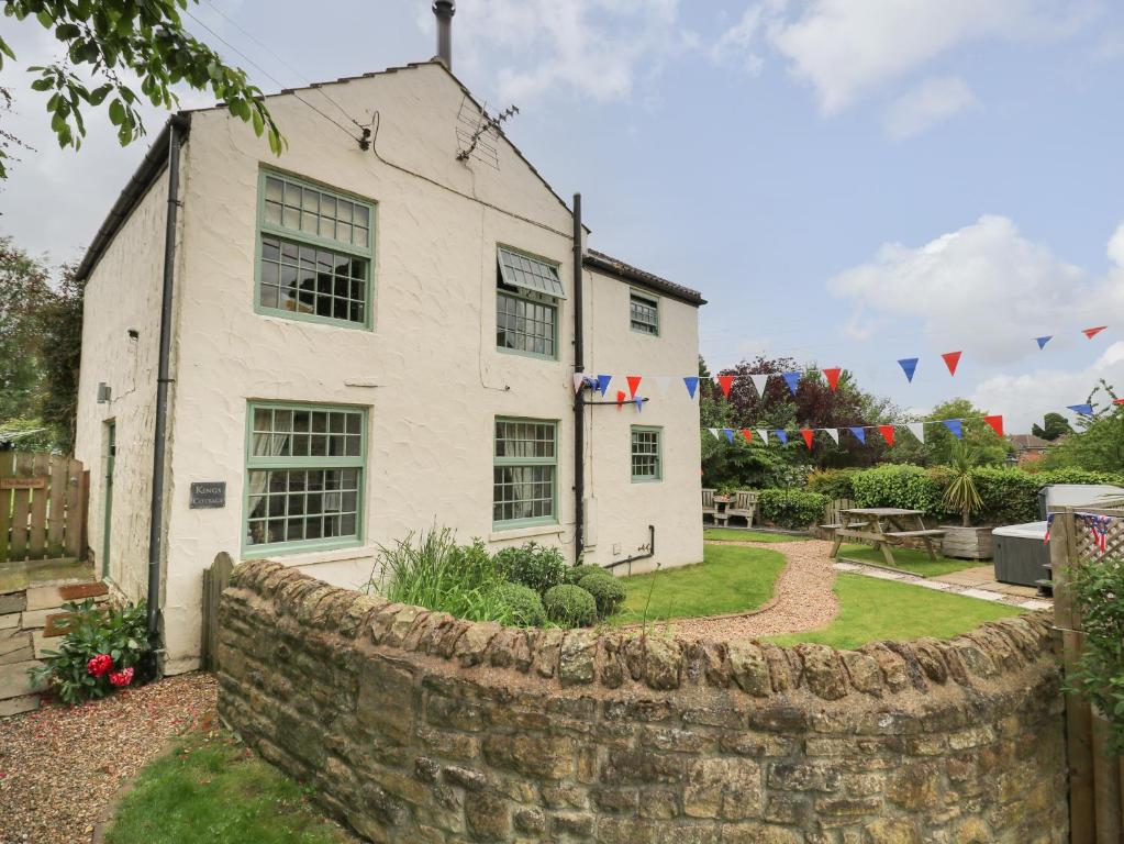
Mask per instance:
[[[779,645],[818,642],[854,648],[879,639],[951,638],[984,621],[1019,614],[1017,607],[843,572],[835,581],[835,595],[840,614],[827,627],[771,636],[770,641]]]

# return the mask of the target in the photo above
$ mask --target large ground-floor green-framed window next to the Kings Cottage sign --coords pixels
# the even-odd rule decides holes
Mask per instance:
[[[366,414],[251,403],[246,548],[289,551],[360,541]]]

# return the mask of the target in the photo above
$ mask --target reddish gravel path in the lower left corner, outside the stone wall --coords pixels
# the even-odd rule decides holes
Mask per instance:
[[[79,844],[125,780],[215,717],[210,674],[0,719],[0,844]]]

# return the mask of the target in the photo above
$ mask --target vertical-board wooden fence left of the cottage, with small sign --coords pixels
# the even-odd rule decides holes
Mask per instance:
[[[89,497],[80,461],[0,452],[0,563],[83,559]]]

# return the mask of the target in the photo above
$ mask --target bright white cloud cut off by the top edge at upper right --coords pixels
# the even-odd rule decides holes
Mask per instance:
[[[722,36],[726,46],[759,49],[753,35],[812,84],[823,114],[839,114],[934,58],[977,40],[1058,38],[1085,24],[1096,0],[807,0],[785,15],[758,0]],[[758,18],[763,17],[764,20]],[[752,31],[735,34],[746,20]]]

